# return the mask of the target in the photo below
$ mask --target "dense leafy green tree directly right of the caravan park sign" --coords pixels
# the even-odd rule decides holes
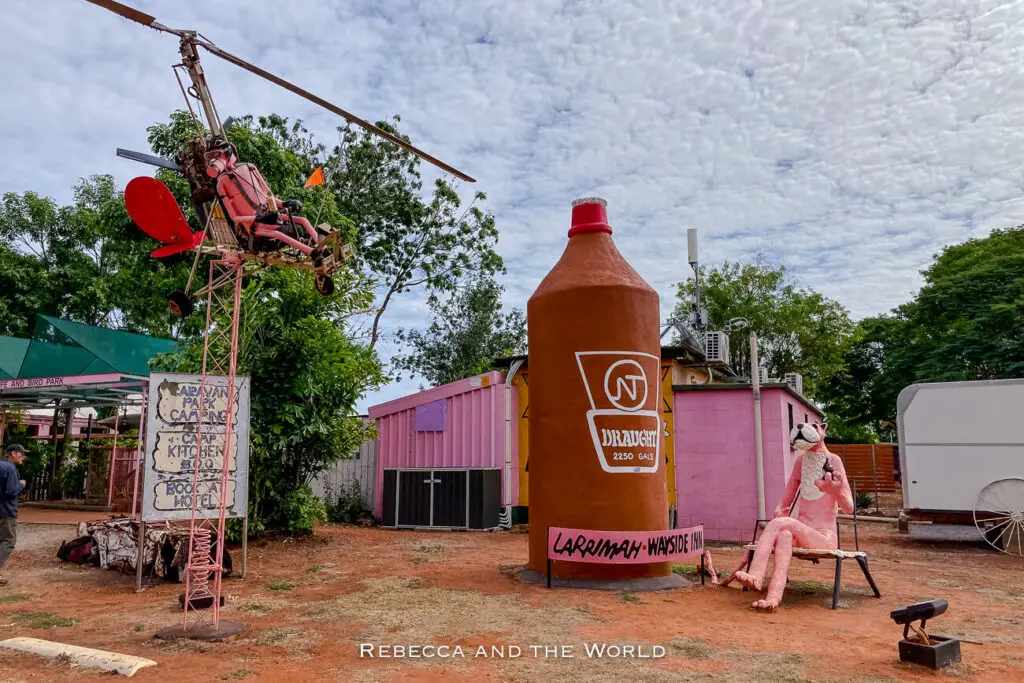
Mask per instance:
[[[354,417],[354,407],[386,380],[373,349],[354,342],[347,330],[349,316],[368,304],[372,292],[357,273],[339,272],[336,285],[325,297],[313,289],[310,273],[281,268],[257,271],[246,284],[238,373],[252,378],[254,530],[262,524],[295,528],[295,520],[286,517],[308,498],[306,484],[372,436],[373,426]],[[177,354],[157,358],[156,368],[200,372],[201,335],[182,346]]]

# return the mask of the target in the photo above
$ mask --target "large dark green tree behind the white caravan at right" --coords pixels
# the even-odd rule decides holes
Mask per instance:
[[[912,301],[861,321],[822,396],[890,438],[910,384],[1024,377],[1024,227],[947,247],[923,275]]]

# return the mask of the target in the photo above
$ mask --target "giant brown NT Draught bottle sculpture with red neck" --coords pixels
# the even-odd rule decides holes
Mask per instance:
[[[526,306],[529,566],[551,526],[668,528],[657,293],[611,241],[606,203],[572,203],[569,241]],[[671,564],[554,562],[567,579],[670,575]]]

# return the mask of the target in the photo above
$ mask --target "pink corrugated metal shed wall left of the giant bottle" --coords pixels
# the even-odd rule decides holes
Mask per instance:
[[[512,393],[512,505],[518,503],[518,408]],[[445,403],[443,431],[416,431],[416,409]],[[420,391],[370,409],[377,423],[374,516],[383,515],[384,470],[392,468],[505,467],[505,375],[487,373]],[[504,494],[505,477],[502,477]]]

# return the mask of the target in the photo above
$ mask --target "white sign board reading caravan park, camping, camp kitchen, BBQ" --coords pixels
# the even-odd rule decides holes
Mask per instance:
[[[146,407],[142,519],[191,518],[193,484],[204,516],[217,514],[225,500],[227,517],[244,517],[249,505],[249,378],[234,378],[227,486],[222,489],[227,419],[227,378],[207,377],[200,428],[202,376],[154,373]],[[197,461],[197,455],[199,460]]]

